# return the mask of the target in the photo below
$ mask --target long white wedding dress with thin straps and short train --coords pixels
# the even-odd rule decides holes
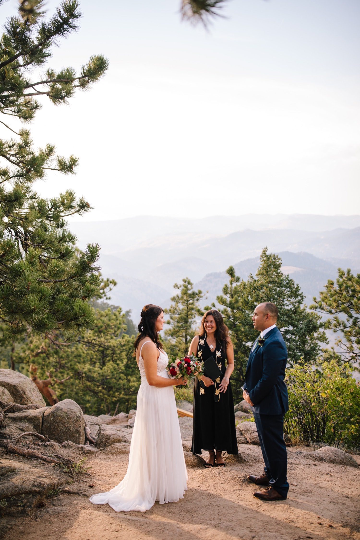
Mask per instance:
[[[144,360],[139,356],[141,386],[132,433],[129,465],[123,480],[113,489],[90,497],[94,504],[109,504],[117,512],[149,510],[155,503],[176,502],[187,488],[174,387],[150,386]],[[168,355],[160,351],[157,374],[168,377]]]

